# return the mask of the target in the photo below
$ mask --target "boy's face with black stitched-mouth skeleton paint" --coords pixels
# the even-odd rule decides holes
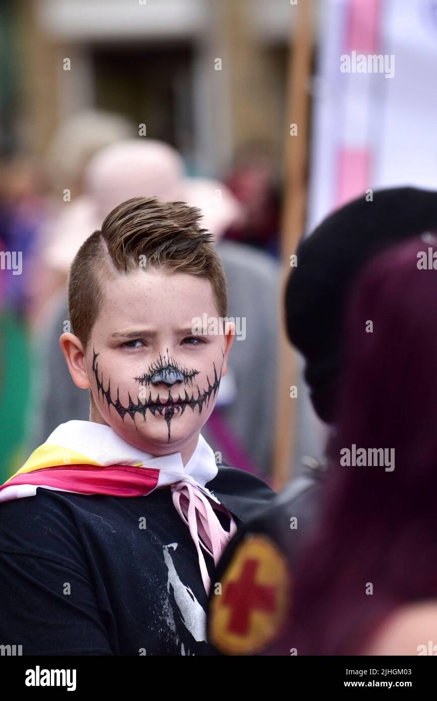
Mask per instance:
[[[211,283],[138,269],[104,280],[85,353],[92,420],[154,455],[181,451],[214,408],[232,336],[193,335],[217,318]]]

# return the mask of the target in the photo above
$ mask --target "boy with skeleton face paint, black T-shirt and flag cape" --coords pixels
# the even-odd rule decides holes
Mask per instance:
[[[0,488],[0,644],[23,655],[212,653],[214,562],[274,493],[200,435],[233,325],[193,332],[227,304],[199,219],[128,200],[71,265],[60,345],[90,421],[58,426]]]

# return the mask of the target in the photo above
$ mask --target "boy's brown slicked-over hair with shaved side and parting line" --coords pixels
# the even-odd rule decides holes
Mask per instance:
[[[134,197],[109,212],[102,229],[81,245],[70,268],[69,318],[84,350],[102,306],[102,280],[137,268],[208,279],[219,316],[226,317],[226,276],[214,237],[200,228],[201,218],[197,207],[154,197]]]

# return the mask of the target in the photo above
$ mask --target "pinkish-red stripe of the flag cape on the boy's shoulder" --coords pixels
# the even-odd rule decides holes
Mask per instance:
[[[43,468],[22,472],[0,487],[18,484],[52,486],[55,489],[79,494],[106,494],[108,496],[145,496],[158,484],[160,470],[134,468],[131,465],[113,465],[97,468],[90,465],[74,465],[71,468]]]

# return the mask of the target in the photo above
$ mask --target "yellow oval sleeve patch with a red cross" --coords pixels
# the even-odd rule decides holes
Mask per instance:
[[[209,640],[222,653],[251,655],[280,632],[289,610],[286,559],[267,536],[249,536],[235,550],[211,597]]]

